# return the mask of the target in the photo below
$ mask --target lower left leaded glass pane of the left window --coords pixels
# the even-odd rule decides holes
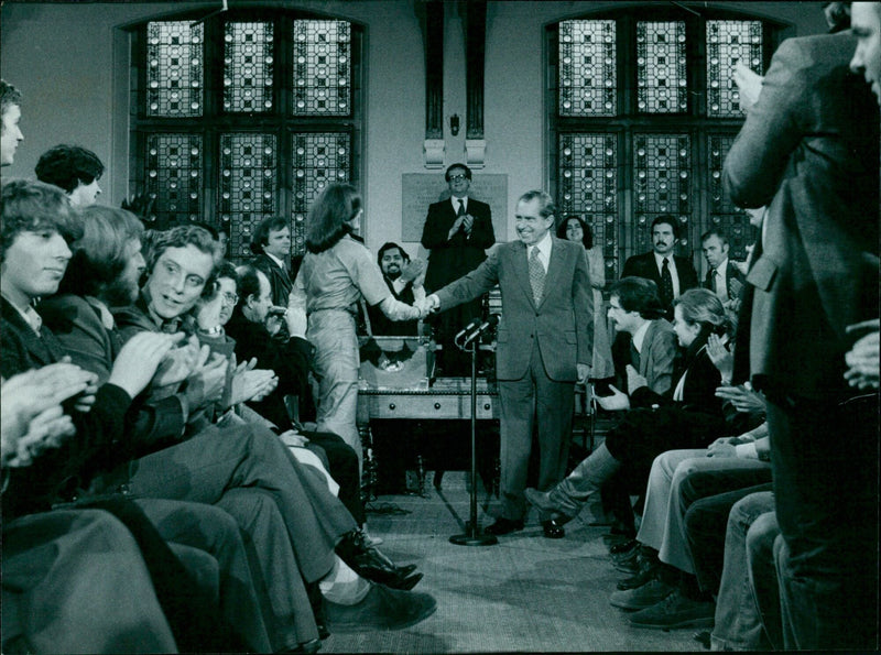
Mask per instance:
[[[202,220],[202,162],[198,134],[146,137],[145,187],[163,225]]]

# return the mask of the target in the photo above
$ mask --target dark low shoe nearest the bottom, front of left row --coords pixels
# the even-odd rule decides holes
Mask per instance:
[[[402,630],[431,616],[437,601],[427,593],[399,591],[371,585],[365,599],[356,605],[325,601],[330,632],[366,630]]]

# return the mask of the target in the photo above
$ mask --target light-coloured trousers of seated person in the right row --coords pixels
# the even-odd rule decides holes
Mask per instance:
[[[719,471],[713,494],[738,487],[771,482],[771,465],[758,459],[707,457],[706,449],[667,450],[652,462],[637,539],[659,552],[661,561],[694,575],[692,553],[685,537],[683,481],[697,471]]]

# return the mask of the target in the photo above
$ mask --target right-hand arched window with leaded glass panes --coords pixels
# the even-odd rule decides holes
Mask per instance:
[[[729,12],[628,8],[547,28],[550,176],[561,216],[602,244],[607,279],[651,250],[659,214],[681,222],[682,254],[710,228],[746,255],[752,228],[721,187],[743,120],[736,62],[759,74],[780,25]],[[698,269],[699,270],[699,269]]]

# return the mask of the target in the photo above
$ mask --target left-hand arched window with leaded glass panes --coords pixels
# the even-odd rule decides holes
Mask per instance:
[[[250,255],[264,218],[303,220],[330,182],[358,184],[357,24],[295,11],[193,13],[133,29],[131,173],[155,198],[153,225],[205,221]]]

